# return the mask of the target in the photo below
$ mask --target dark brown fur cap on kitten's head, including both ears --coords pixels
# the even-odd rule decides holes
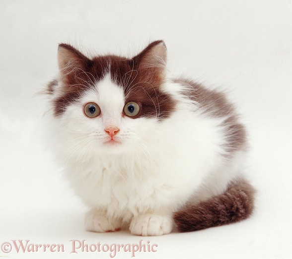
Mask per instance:
[[[54,100],[55,116],[63,114],[69,104],[110,72],[112,80],[124,89],[125,103],[136,101],[142,104],[140,116],[167,118],[175,102],[160,90],[165,59],[163,41],[152,42],[133,59],[107,55],[90,60],[72,46],[60,44],[58,60],[63,75],[63,94]],[[48,91],[53,92],[50,84]]]

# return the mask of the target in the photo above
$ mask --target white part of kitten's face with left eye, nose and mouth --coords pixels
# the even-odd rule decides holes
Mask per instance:
[[[139,103],[132,106],[134,102],[127,105],[125,99],[122,87],[112,82],[108,74],[91,90],[85,91],[77,102],[70,104],[61,120],[73,138],[88,136],[88,148],[125,152],[143,145],[147,133],[154,130],[157,123],[153,117],[129,116],[131,112],[139,114],[140,106]],[[124,110],[128,110],[128,115]]]

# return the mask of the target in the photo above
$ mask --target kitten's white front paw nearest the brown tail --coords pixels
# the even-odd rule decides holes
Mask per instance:
[[[132,219],[130,231],[139,236],[161,236],[170,233],[172,226],[171,217],[146,214]]]

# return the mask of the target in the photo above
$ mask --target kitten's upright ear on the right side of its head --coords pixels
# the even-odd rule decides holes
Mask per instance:
[[[134,58],[140,69],[158,68],[164,74],[166,66],[166,46],[164,41],[150,43],[140,54]]]

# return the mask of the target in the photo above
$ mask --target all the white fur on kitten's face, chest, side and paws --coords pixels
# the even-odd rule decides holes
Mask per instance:
[[[87,230],[128,227],[136,235],[167,234],[173,212],[224,192],[239,174],[242,151],[232,159],[224,156],[224,118],[203,113],[181,94],[180,84],[169,80],[162,89],[178,105],[161,122],[123,117],[125,96],[109,75],[61,117],[51,116],[57,156],[76,193],[92,208]],[[84,116],[88,102],[99,105],[100,116]],[[121,144],[104,144],[109,126],[120,129]]]

